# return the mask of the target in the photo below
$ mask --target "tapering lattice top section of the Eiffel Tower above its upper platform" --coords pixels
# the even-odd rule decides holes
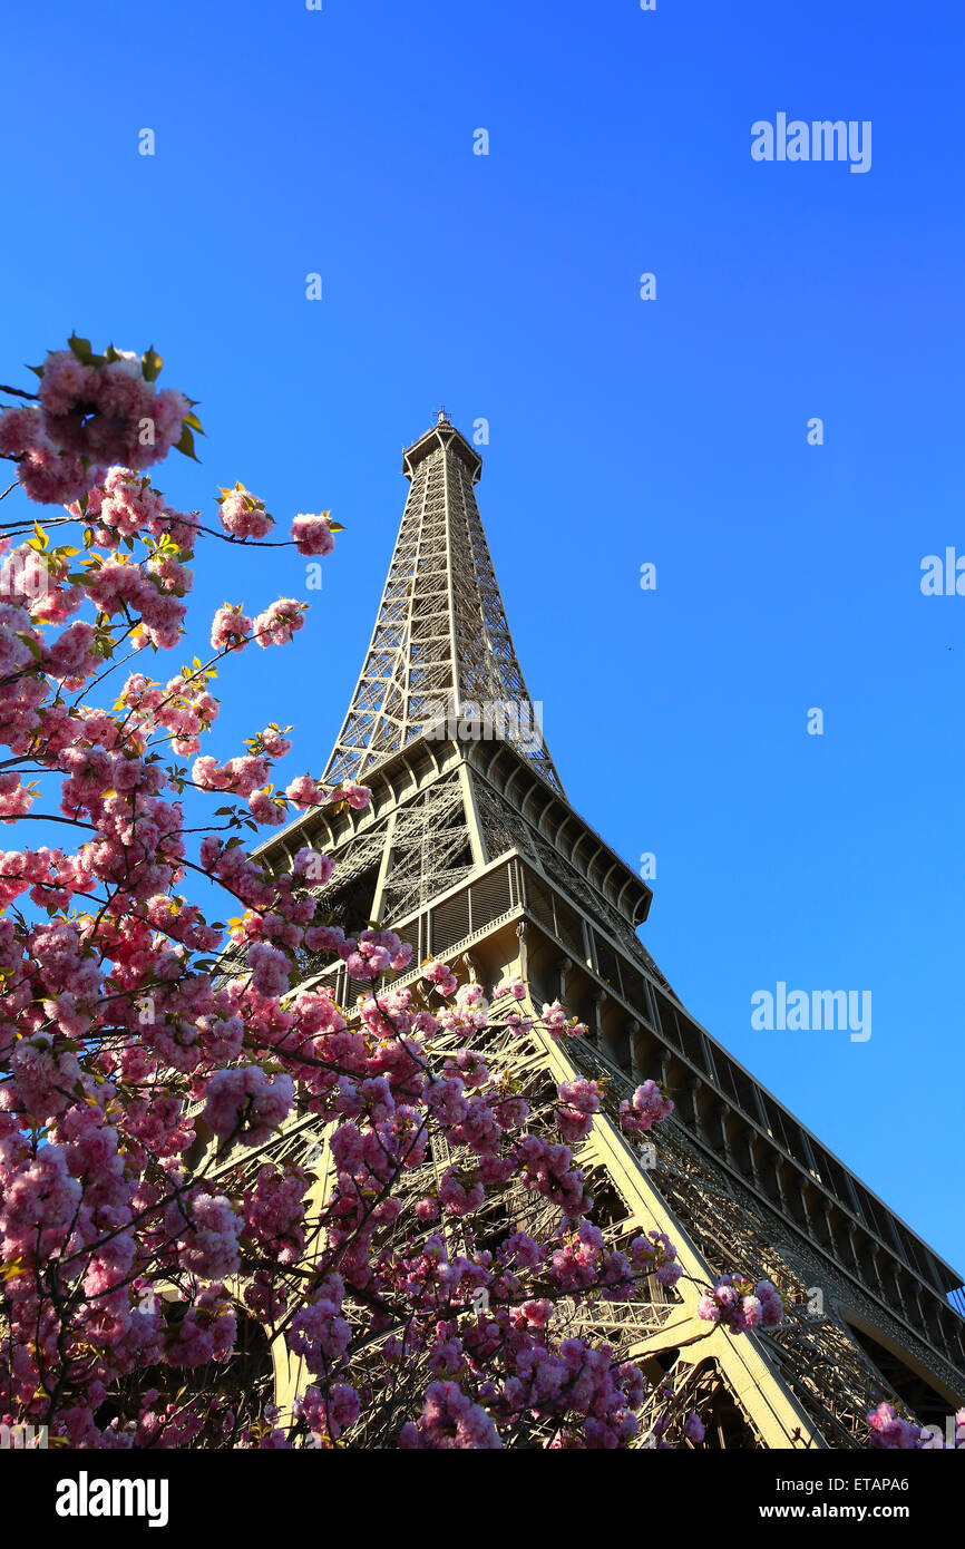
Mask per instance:
[[[493,568],[474,488],[482,457],[449,421],[403,454],[409,496],[372,641],[325,781],[361,779],[426,733],[462,722],[516,742],[562,795]]]

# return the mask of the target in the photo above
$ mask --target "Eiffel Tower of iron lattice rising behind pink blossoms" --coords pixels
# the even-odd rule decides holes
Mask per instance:
[[[480,454],[440,410],[403,471],[372,643],[325,770],[330,784],[364,781],[372,804],[308,812],[257,857],[271,872],[305,844],[330,853],[327,917],[392,928],[412,965],[445,959],[489,996],[519,974],[519,1007],[491,999],[486,1061],[511,1058],[534,1108],[579,1075],[606,1084],[578,1156],[595,1219],[613,1242],[666,1231],[685,1279],[595,1309],[589,1332],[655,1389],[686,1394],[709,1445],[861,1447],[883,1399],[945,1434],[965,1394],[960,1276],[686,1011],[637,934],[651,889],[573,812],[544,744],[476,503]],[[418,979],[410,967],[397,982]],[[308,963],[311,984],[341,1007],[370,990],[341,962]],[[539,1029],[555,999],[587,1036],[555,1044]],[[524,1039],[505,1029],[510,1010],[536,1019]],[[675,1111],[638,1149],[616,1114],[647,1077]],[[321,1207],[331,1165],[316,1120],[296,1115],[245,1165],[266,1157],[307,1159]],[[779,1287],[781,1329],[708,1335],[692,1281],[734,1270]],[[285,1411],[308,1379],[282,1349],[273,1362]]]

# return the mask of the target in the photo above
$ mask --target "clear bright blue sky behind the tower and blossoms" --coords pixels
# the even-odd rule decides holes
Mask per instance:
[[[208,431],[172,503],[240,479],[347,528],[321,596],[198,553],[175,668],[222,601],[314,603],[206,751],[294,722],[321,773],[401,446],[485,417],[517,651],[575,807],[657,858],[647,946],[965,1267],[965,596],[920,590],[965,553],[960,6],[48,0],[0,39],[0,380],[71,328],[153,344]],[[779,113],[871,121],[871,169],[754,161]],[[756,1032],[779,981],[871,990],[871,1039]]]

